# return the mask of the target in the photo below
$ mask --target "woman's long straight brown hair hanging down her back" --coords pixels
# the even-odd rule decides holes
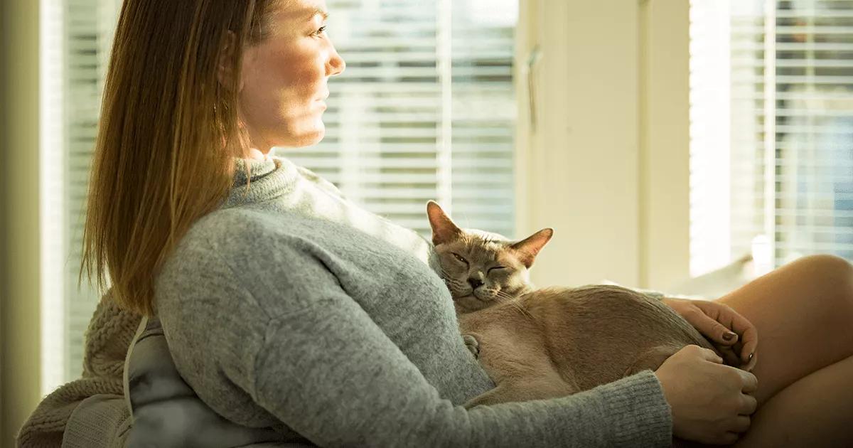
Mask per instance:
[[[243,155],[242,49],[278,0],[125,0],[104,84],[83,237],[84,273],[154,313],[154,278],[191,224],[224,200]],[[234,76],[221,77],[225,73]]]

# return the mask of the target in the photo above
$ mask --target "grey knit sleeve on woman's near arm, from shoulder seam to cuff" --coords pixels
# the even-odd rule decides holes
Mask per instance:
[[[442,399],[345,294],[276,319],[253,396],[321,446],[654,446],[669,408],[644,372],[561,399],[465,410]]]

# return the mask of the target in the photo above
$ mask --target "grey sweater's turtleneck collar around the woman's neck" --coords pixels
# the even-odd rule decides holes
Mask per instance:
[[[223,208],[266,201],[293,189],[299,177],[297,166],[289,160],[269,156],[266,160],[235,157],[234,183]],[[247,177],[246,168],[251,175]]]

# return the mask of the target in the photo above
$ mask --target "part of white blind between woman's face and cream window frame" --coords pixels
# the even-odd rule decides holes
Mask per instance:
[[[280,148],[372,212],[428,235],[426,203],[514,233],[514,0],[328,2],[347,62],[326,137]]]

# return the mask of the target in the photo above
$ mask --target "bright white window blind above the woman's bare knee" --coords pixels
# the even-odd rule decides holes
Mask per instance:
[[[853,1],[693,0],[693,274],[853,259],[851,58]]]

